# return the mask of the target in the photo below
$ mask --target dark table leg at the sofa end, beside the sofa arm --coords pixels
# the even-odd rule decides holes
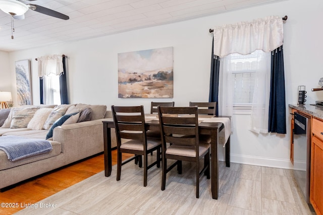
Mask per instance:
[[[112,155],[111,155],[111,128],[107,127],[107,123],[103,123],[103,140],[104,140],[104,175],[109,177],[112,171]]]

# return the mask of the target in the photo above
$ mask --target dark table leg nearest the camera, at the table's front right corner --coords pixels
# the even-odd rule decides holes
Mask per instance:
[[[218,166],[218,129],[211,131],[211,192],[212,198],[219,196],[219,166]]]

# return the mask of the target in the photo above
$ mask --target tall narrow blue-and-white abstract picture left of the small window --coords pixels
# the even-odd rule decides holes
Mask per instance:
[[[30,61],[16,61],[16,82],[18,105],[32,105]]]

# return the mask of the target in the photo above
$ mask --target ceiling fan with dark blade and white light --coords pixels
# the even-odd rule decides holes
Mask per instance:
[[[28,2],[32,1],[36,0],[0,0],[0,9],[3,12],[13,16],[13,18],[19,20],[24,19],[24,14],[28,11],[28,9],[63,20],[70,19],[68,16],[57,11],[53,11],[39,5],[28,4]]]

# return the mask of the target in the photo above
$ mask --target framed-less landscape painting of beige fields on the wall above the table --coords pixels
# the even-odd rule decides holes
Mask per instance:
[[[119,98],[173,98],[173,47],[118,54]]]

